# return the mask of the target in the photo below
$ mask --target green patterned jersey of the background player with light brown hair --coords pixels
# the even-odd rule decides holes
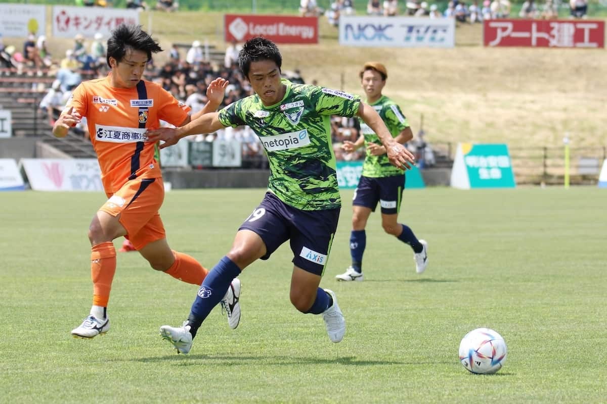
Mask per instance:
[[[388,131],[390,131],[390,134],[392,134],[392,137],[398,136],[402,130],[409,127],[409,121],[407,121],[407,118],[405,118],[405,116],[402,114],[401,108],[399,108],[394,101],[386,96],[381,96],[378,101],[369,105],[375,108],[382,121],[384,121],[384,124],[388,128]],[[375,132],[362,120],[361,134],[365,136],[365,148],[367,148],[368,144],[370,143],[376,143],[380,146],[382,145],[382,142],[379,141],[378,135],[376,135]],[[372,156],[371,153],[367,151],[367,157],[365,157],[365,162],[362,165],[362,175],[365,177],[390,177],[403,173],[404,171],[390,164],[387,154],[382,154],[381,156]]]

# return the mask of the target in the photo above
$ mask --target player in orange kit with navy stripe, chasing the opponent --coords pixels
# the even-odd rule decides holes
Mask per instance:
[[[90,315],[72,330],[73,337],[93,338],[109,330],[107,302],[116,271],[112,240],[118,237],[127,236],[154,270],[183,282],[200,285],[208,273],[191,256],[169,248],[158,214],[164,185],[155,144],[145,142],[146,130],[158,128],[160,119],[175,126],[191,121],[188,107],[160,85],[142,79],[152,53],[161,50],[141,26],[117,27],[107,41],[109,75],[78,85],[53,127],[56,137],[64,137],[86,116],[109,198],[90,223],[93,305]],[[208,103],[193,118],[215,111],[227,84],[215,79],[207,90]],[[234,281],[222,299],[231,328],[240,320],[240,281]]]

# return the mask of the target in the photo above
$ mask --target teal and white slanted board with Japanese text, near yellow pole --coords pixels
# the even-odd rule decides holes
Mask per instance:
[[[458,144],[451,170],[451,186],[470,188],[514,188],[514,172],[505,144]]]

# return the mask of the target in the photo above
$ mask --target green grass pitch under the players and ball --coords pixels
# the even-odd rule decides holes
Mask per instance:
[[[161,215],[175,250],[211,268],[263,190],[176,190]],[[331,343],[320,316],[289,302],[291,251],[241,275],[235,331],[215,308],[188,356],[158,336],[179,325],[197,288],[118,253],[109,315],[93,340],[70,330],[88,314],[86,237],[100,193],[2,193],[0,402],[7,403],[599,403],[607,393],[607,194],[598,188],[404,193],[400,214],[429,242],[429,267],[367,227],[364,282],[349,265],[351,191],[321,286],[347,322]],[[117,247],[121,240],[116,240]],[[467,373],[458,345],[493,328],[503,369]]]

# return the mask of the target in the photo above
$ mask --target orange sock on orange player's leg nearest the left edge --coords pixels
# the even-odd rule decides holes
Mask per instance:
[[[107,307],[116,272],[116,250],[111,241],[93,245],[90,253],[90,277],[93,280],[93,306]]]

